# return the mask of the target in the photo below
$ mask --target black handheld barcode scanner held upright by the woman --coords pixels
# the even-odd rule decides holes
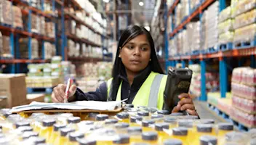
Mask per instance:
[[[192,70],[188,68],[169,69],[164,90],[164,109],[172,112],[180,99],[178,95],[188,93],[191,85]],[[188,113],[183,111],[186,115]]]

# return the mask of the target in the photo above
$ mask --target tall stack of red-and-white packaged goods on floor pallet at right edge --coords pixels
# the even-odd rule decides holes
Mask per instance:
[[[256,69],[237,67],[231,79],[231,117],[249,127],[256,125]]]

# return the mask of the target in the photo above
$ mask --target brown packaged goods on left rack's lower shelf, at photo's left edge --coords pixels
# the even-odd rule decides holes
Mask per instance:
[[[1,35],[1,33],[0,33]],[[13,57],[11,54],[11,46],[9,36],[0,36],[1,45],[0,45],[0,57]]]

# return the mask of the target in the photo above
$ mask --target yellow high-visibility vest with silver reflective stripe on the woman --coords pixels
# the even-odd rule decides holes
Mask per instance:
[[[108,80],[108,97],[111,90],[111,83],[113,78]],[[157,107],[162,109],[164,104],[164,89],[167,83],[167,75],[161,75],[156,72],[151,72],[148,78],[144,81],[143,85],[140,86],[139,91],[133,99],[132,104],[135,107]],[[121,83],[122,84],[122,83]],[[116,101],[121,100],[121,84],[117,92]]]

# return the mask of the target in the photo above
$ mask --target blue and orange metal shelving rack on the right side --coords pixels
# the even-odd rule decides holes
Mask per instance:
[[[196,9],[190,9],[190,14],[188,17],[185,17],[185,19],[178,25],[176,28],[174,28],[174,24],[167,24],[167,17],[169,17],[170,14],[173,14],[175,11],[175,8],[177,7],[177,4],[179,4],[180,0],[175,0],[174,3],[170,8],[166,9],[165,13],[165,22],[167,25],[172,25],[173,31],[172,33],[167,33],[167,25],[165,25],[165,61],[166,61],[166,68],[169,66],[175,67],[178,62],[181,62],[182,67],[185,67],[185,62],[188,61],[188,65],[193,64],[193,61],[196,59],[200,60],[201,65],[201,96],[199,97],[199,100],[201,101],[207,101],[207,91],[206,91],[206,65],[207,65],[207,59],[210,58],[217,58],[219,60],[219,67],[220,67],[220,96],[222,98],[225,98],[225,95],[227,93],[228,88],[228,64],[227,64],[227,58],[228,57],[244,57],[244,56],[250,56],[251,59],[251,67],[256,67],[255,65],[255,56],[256,56],[256,46],[249,46],[248,48],[239,49],[239,48],[233,48],[228,51],[217,51],[215,53],[211,54],[187,54],[187,55],[179,55],[175,57],[169,57],[168,47],[169,47],[169,39],[171,39],[173,36],[175,36],[177,33],[179,33],[180,30],[183,30],[185,28],[185,25],[188,24],[188,22],[191,22],[191,20],[199,16],[199,19],[201,21],[201,14],[209,7],[210,4],[212,4],[215,0],[201,0],[201,4]],[[225,9],[225,0],[219,0],[220,1],[220,12]],[[189,3],[190,4],[190,3]],[[165,6],[167,7],[167,6]],[[256,38],[255,38],[256,40]]]

